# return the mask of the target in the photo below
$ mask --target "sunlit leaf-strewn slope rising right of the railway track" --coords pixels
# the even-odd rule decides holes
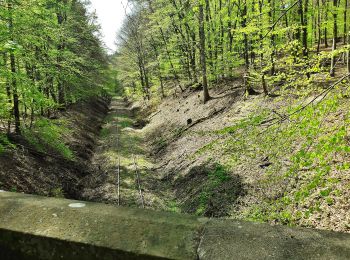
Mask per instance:
[[[322,89],[245,97],[241,84],[217,85],[206,104],[200,92],[187,90],[181,98],[168,97],[148,117],[142,132],[154,171],[172,192],[168,209],[349,232],[348,160],[347,152],[339,152],[348,139],[337,132],[349,124],[347,94],[337,94],[346,85],[315,99],[294,121],[270,128],[266,118],[309,104]],[[305,158],[320,159],[295,163],[304,146],[310,154]]]

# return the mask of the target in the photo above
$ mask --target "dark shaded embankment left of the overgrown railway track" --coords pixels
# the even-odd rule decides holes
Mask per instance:
[[[94,98],[33,126],[30,135],[12,135],[15,148],[0,154],[0,189],[82,198],[84,180],[98,171],[89,160],[107,112],[108,101]],[[70,150],[73,160],[64,156]]]

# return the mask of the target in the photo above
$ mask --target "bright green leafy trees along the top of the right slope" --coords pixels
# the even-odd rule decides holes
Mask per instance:
[[[167,81],[175,88],[196,86],[202,71],[198,13],[203,5],[210,82],[232,79],[244,65],[249,93],[264,85],[263,75],[265,94],[276,84],[305,87],[317,80],[315,73],[335,72],[348,60],[347,0],[335,2],[130,1],[115,56],[118,78],[126,95],[148,99],[164,95]]]

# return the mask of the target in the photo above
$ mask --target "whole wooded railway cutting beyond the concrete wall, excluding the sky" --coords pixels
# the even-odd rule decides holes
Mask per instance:
[[[350,232],[348,0],[0,0],[0,190]]]

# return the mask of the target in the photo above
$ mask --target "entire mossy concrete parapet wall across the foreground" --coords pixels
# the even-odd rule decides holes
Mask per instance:
[[[350,234],[0,192],[0,259],[350,259]]]

